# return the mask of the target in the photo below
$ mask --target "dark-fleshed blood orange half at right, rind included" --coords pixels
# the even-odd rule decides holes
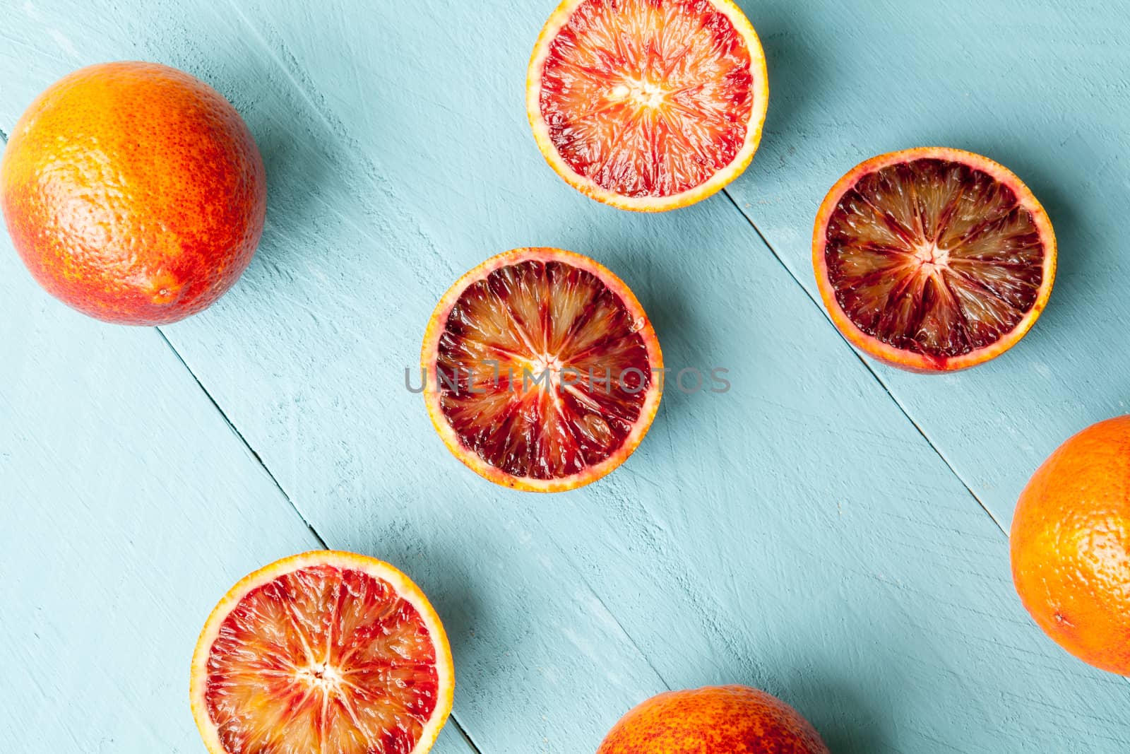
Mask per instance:
[[[1032,328],[1055,278],[1040,202],[988,157],[947,148],[880,155],[820,205],[816,280],[855,347],[920,372],[999,356]]]

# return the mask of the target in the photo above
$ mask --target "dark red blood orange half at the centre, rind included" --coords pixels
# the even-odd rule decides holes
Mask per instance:
[[[559,492],[632,454],[659,408],[663,357],[640,302],[588,257],[515,249],[444,294],[421,353],[444,443],[497,484]]]

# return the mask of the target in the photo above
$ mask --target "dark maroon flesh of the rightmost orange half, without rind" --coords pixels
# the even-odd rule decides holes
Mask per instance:
[[[1011,331],[1040,295],[1044,254],[1010,188],[929,158],[861,177],[832,213],[825,248],[836,301],[860,330],[939,359]]]

